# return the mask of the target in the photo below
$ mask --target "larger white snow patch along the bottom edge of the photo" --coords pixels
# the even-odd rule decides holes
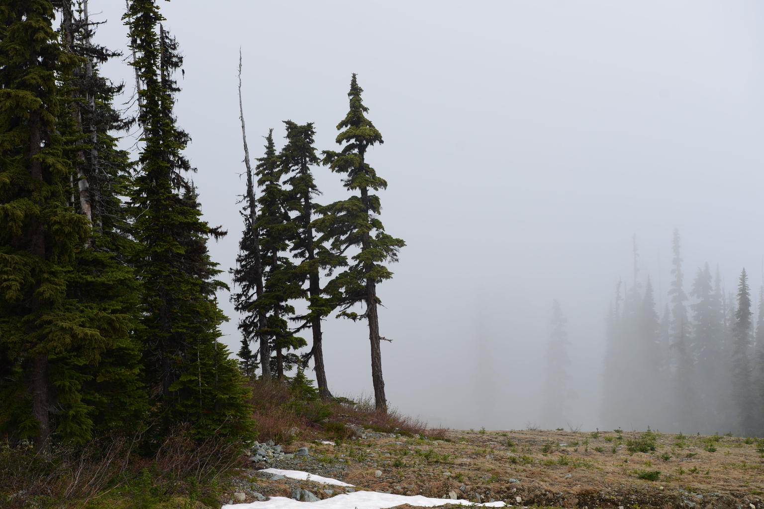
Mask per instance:
[[[312,477],[312,476],[311,476]],[[392,495],[390,493],[377,493],[376,491],[355,491],[343,493],[332,498],[325,498],[317,502],[300,502],[286,497],[271,497],[264,502],[251,502],[250,504],[229,504],[222,509],[306,509],[307,505],[315,509],[384,509],[395,507],[400,504],[411,504],[421,507],[435,507],[443,504],[471,505],[474,507],[504,507],[503,502],[488,502],[486,504],[473,504],[466,500],[452,500],[451,498],[429,498],[422,495],[406,496]]]

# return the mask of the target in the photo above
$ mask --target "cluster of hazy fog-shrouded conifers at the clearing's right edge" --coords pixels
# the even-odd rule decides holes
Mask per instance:
[[[618,282],[607,314],[604,397],[608,427],[764,435],[764,288],[756,323],[748,274],[725,292],[708,263],[685,282],[680,237],[672,243],[668,302],[637,277]]]

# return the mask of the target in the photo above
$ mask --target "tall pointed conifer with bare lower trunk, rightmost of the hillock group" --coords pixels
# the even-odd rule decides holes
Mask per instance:
[[[382,375],[382,354],[380,350],[379,316],[377,306],[377,285],[390,279],[393,272],[383,263],[396,262],[400,248],[406,245],[401,239],[384,231],[379,219],[380,198],[373,191],[387,188],[387,182],[366,162],[369,147],[383,143],[382,134],[369,121],[365,113],[368,108],[361,101],[363,89],[358,86],[356,75],[350,82],[350,110],[337,124],[336,141],[345,147],[341,152],[326,150],[323,162],[333,172],[345,173],[343,185],[348,191],[358,192],[350,198],[335,201],[320,211],[323,217],[316,220],[316,229],[323,234],[320,241],[331,240],[335,253],[345,253],[351,246],[360,249],[352,256],[348,269],[332,279],[328,285],[330,295],[338,298],[340,315],[351,320],[366,320],[371,342],[371,379],[374,383],[374,404],[377,410],[387,411],[387,398]],[[362,314],[348,311],[354,304],[364,304]]]

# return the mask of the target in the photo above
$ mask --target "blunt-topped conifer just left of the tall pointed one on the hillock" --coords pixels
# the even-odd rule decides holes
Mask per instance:
[[[323,334],[321,322],[335,308],[332,298],[325,295],[321,286],[321,269],[334,269],[345,264],[345,256],[331,253],[319,242],[319,237],[314,233],[312,221],[316,218],[316,209],[319,205],[313,201],[319,195],[312,174],[312,166],[320,163],[313,147],[316,130],[312,122],[298,125],[293,121],[284,121],[286,126],[286,144],[279,155],[281,172],[285,177],[286,208],[294,214],[291,218],[295,225],[291,251],[299,260],[295,267],[295,277],[299,281],[307,281],[305,298],[308,301],[306,314],[295,317],[303,324],[297,330],[310,327],[312,333],[312,346],[305,356],[304,361],[313,359],[316,369],[316,382],[319,394],[322,398],[330,398],[329,385],[326,381],[326,369],[324,366]]]

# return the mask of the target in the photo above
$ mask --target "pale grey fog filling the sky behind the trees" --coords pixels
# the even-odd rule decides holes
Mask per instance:
[[[108,21],[96,40],[127,56],[119,4],[92,0],[90,10]],[[606,318],[617,282],[622,295],[635,283],[633,237],[636,282],[650,277],[662,314],[675,228],[686,293],[706,262],[718,264],[725,295],[743,267],[758,291],[764,5],[160,4],[186,57],[176,113],[193,138],[202,210],[228,230],[210,245],[222,269],[234,266],[242,229],[239,48],[253,157],[270,127],[280,147],[287,119],[315,122],[316,147],[336,150],[357,72],[385,141],[367,156],[389,185],[380,218],[407,244],[377,289],[381,333],[393,340],[382,344],[390,404],[453,428],[678,426],[649,401],[644,419],[603,412]],[[104,74],[125,80],[129,105],[131,69],[112,62]],[[338,176],[315,174],[320,203],[345,197]],[[219,295],[231,317],[223,340],[236,352],[228,298]],[[568,411],[549,418],[555,299],[567,319]],[[371,395],[364,324],[329,318],[324,352],[335,395]]]

